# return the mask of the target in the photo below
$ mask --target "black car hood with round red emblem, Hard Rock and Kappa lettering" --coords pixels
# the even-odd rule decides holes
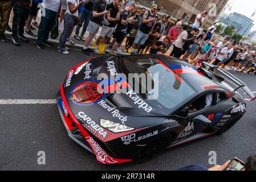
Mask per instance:
[[[105,93],[106,89],[108,92],[109,89],[115,90],[120,84],[128,86],[125,82],[108,79],[101,87],[100,82],[104,79],[97,81],[97,77],[102,73],[109,77],[119,75],[116,57],[97,57],[87,61],[82,69],[79,68],[80,65],[68,72],[63,83],[63,91],[68,106],[81,124],[84,120],[92,120],[99,124],[99,119],[104,118],[127,126],[142,128],[154,126],[163,121],[165,114],[133,90],[126,93]],[[76,72],[78,69],[80,71]]]

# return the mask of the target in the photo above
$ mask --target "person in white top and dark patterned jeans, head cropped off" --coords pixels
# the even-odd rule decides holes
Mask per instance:
[[[65,47],[67,39],[70,38],[73,28],[78,23],[78,9],[82,6],[84,1],[78,2],[78,0],[67,0],[67,13],[64,15],[64,30],[59,40],[58,51],[64,54],[68,54]]]

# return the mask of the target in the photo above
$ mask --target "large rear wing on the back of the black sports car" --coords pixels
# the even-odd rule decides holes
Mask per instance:
[[[253,92],[251,92],[251,90],[248,88],[248,86],[243,81],[239,80],[237,77],[227,72],[225,69],[207,63],[205,61],[202,61],[201,64],[201,68],[206,69],[208,72],[212,73],[216,77],[222,78],[220,83],[224,86],[228,86],[231,92],[239,92],[243,99],[246,101],[256,100],[256,97],[254,96]]]

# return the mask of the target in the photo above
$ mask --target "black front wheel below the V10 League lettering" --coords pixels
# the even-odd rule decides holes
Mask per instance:
[[[155,142],[147,144],[141,151],[140,154],[135,159],[137,163],[145,163],[149,160],[156,158],[157,155],[160,154],[169,143],[172,142],[172,136],[168,138],[157,139]]]

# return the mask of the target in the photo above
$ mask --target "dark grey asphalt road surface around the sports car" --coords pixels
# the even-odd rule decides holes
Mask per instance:
[[[0,100],[54,99],[68,69],[88,58],[70,52],[0,42]],[[255,76],[235,75],[256,91]],[[195,163],[210,166],[209,151],[217,152],[218,164],[235,156],[246,160],[256,153],[255,103],[248,103],[245,116],[221,136],[170,148],[148,163],[111,166],[98,163],[68,137],[56,105],[0,105],[0,170],[173,170]],[[38,151],[46,152],[46,165],[38,165]]]

